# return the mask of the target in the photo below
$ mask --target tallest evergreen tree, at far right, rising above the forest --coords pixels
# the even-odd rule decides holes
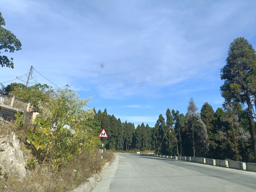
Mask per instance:
[[[243,37],[234,39],[228,50],[226,65],[221,69],[221,94],[227,103],[247,105],[252,149],[256,162],[256,54],[253,46]]]

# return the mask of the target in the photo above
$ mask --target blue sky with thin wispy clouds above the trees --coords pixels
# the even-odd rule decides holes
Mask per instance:
[[[256,1],[0,4],[5,28],[22,43],[12,53],[15,68],[1,68],[0,82],[33,65],[58,86],[69,84],[82,98],[93,98],[88,106],[107,108],[135,126],[154,126],[167,108],[185,114],[190,97],[199,110],[205,102],[221,107],[220,69],[229,44],[242,36],[256,48]]]

